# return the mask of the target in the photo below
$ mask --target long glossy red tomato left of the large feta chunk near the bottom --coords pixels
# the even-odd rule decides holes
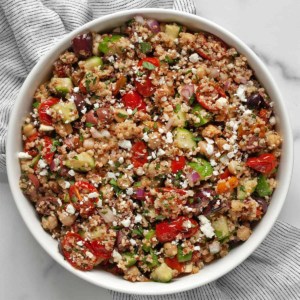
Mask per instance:
[[[175,240],[179,233],[183,238],[190,238],[198,230],[197,221],[181,216],[171,222],[163,221],[156,224],[156,237],[161,243],[165,243]]]

